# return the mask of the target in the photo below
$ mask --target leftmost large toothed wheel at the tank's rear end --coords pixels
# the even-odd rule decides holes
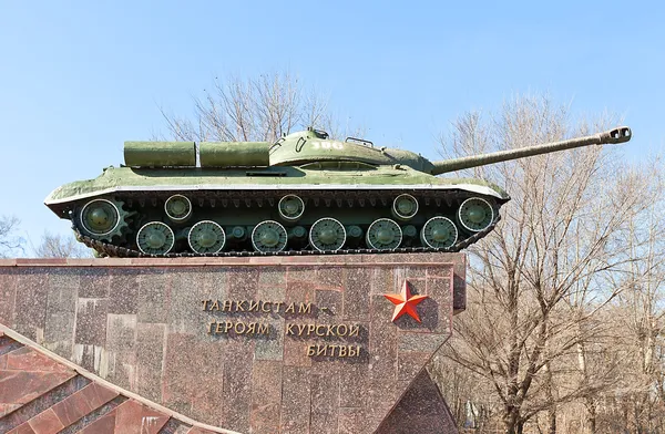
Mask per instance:
[[[93,199],[81,208],[79,220],[85,235],[99,240],[108,240],[121,236],[122,229],[127,227],[124,204],[117,200]]]

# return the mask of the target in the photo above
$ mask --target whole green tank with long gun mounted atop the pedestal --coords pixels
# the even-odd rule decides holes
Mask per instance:
[[[510,197],[436,175],[630,138],[622,126],[441,162],[313,128],[276,143],[126,142],[124,165],[45,205],[112,257],[458,251],[494,228]]]

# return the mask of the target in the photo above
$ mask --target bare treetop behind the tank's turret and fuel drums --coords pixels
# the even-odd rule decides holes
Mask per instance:
[[[359,128],[340,125],[325,97],[305,89],[288,72],[256,78],[215,79],[212,90],[194,99],[194,116],[181,117],[162,108],[168,133],[178,141],[275,142],[283,134],[308,126],[331,136],[358,135]]]

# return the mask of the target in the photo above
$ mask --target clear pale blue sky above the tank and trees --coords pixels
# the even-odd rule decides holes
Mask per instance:
[[[635,158],[665,144],[663,2],[446,3],[0,0],[0,215],[33,244],[66,234],[44,197],[215,76],[289,71],[368,140],[430,157],[458,115],[515,94],[624,117]]]

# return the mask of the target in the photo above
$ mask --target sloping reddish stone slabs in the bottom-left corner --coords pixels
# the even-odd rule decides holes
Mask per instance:
[[[79,375],[1,331],[0,354],[0,433],[212,433]]]

